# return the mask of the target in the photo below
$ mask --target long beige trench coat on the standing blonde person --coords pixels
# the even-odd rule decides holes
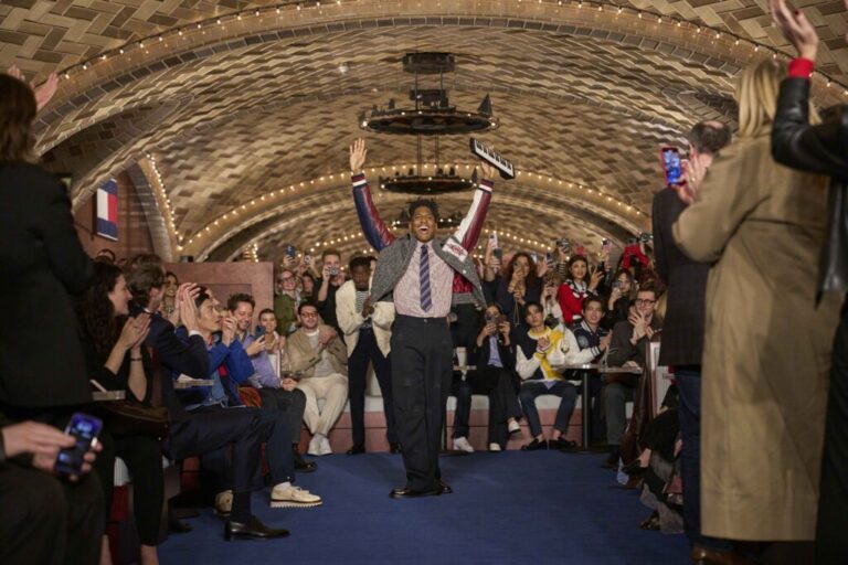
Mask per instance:
[[[701,524],[731,540],[813,540],[841,297],[815,303],[827,182],[776,164],[768,135],[710,168],[674,226],[707,285]]]

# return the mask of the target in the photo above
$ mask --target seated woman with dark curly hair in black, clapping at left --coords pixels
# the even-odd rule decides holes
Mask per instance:
[[[161,278],[162,273],[157,267],[145,268],[155,270],[155,275]],[[120,269],[105,262],[95,262],[92,286],[76,305],[81,340],[93,380],[107,390],[124,391],[127,399],[149,405],[152,369],[144,341],[149,332],[150,315],[128,318],[131,298]],[[96,411],[95,414],[104,420],[99,436],[103,451],[94,463],[103,483],[104,511],[108,515],[112,508],[115,458],[120,457],[132,477],[132,511],[141,543],[141,564],[159,563],[156,546],[165,503],[159,438],[113,429],[108,412]],[[105,527],[100,535],[100,563],[112,563]]]

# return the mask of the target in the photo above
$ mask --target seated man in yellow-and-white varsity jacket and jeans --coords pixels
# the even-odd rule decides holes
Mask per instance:
[[[521,334],[516,350],[516,369],[523,380],[519,392],[532,441],[523,446],[524,450],[548,449],[549,441],[544,439],[536,398],[543,394],[560,396],[560,407],[553,424],[550,447],[554,449],[572,448],[576,444],[565,439],[563,434],[569,429],[569,420],[574,412],[577,398],[577,387],[565,381],[554,366],[565,363],[563,333],[559,329],[544,326],[544,310],[539,302],[528,302],[526,322],[530,328]]]

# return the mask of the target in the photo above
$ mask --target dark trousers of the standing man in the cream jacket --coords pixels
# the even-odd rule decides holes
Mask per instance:
[[[374,331],[359,330],[359,341],[348,359],[348,396],[350,397],[350,426],[353,431],[353,444],[365,444],[365,379],[369,362],[374,366],[380,392],[383,395],[383,413],[385,414],[385,438],[390,444],[398,443],[398,430],[394,423],[394,405],[392,403],[392,364],[383,356],[377,345]]]

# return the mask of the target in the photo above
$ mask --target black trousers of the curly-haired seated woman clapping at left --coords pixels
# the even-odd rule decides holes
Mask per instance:
[[[103,483],[106,516],[112,509],[115,458],[120,457],[132,478],[132,513],[138,539],[144,545],[159,544],[159,525],[165,504],[162,448],[152,436],[115,437],[107,429],[100,434],[103,451],[94,462]]]

